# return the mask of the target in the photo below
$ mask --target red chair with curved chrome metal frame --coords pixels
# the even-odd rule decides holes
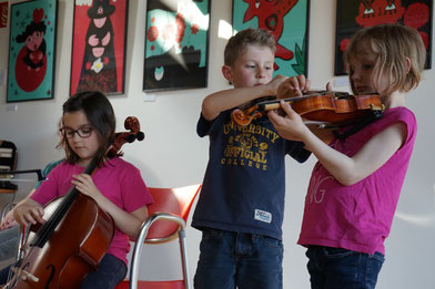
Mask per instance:
[[[185,224],[193,200],[201,185],[179,188],[149,188],[154,203],[148,207],[149,217],[142,224],[138,239],[134,242],[133,256],[130,264],[130,280],[125,279],[117,289],[190,289],[188,258],[185,252]],[[141,250],[144,244],[163,244],[179,238],[183,280],[171,281],[138,281]]]

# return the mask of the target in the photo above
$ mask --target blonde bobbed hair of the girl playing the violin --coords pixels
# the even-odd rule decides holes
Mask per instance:
[[[344,53],[344,61],[348,65],[352,58],[358,53],[376,54],[374,73],[376,80],[384,74],[390,80],[393,91],[408,92],[415,89],[422,78],[426,61],[426,49],[422,37],[412,28],[401,24],[381,24],[357,31],[348,43]],[[406,59],[411,61],[411,69]],[[350,74],[352,90],[354,90]]]

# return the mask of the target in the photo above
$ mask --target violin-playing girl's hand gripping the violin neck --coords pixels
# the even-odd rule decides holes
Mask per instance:
[[[285,115],[281,116],[275,111],[267,113],[269,120],[275,127],[281,137],[292,141],[303,141],[304,135],[310,132],[308,127],[303,123],[299,115],[289,103],[281,101],[281,109]]]

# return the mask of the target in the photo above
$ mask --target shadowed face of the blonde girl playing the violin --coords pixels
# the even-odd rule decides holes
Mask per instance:
[[[376,54],[373,52],[361,52],[350,59],[350,79],[356,95],[380,93],[382,94],[388,86],[388,78],[384,73],[375,71]]]

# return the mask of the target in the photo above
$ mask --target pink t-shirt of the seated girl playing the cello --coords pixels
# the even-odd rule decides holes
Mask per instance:
[[[31,198],[41,205],[45,205],[51,199],[63,196],[72,187],[72,175],[80,174],[82,171],[83,167],[75,164],[71,165],[65,162],[59,164],[51,171]],[[92,179],[107,198],[128,213],[152,203],[152,197],[141,177],[140,171],[119,157],[105,162],[104,166],[95,171]],[[115,228],[112,244],[107,252],[127,264],[129,250],[128,235]]]

